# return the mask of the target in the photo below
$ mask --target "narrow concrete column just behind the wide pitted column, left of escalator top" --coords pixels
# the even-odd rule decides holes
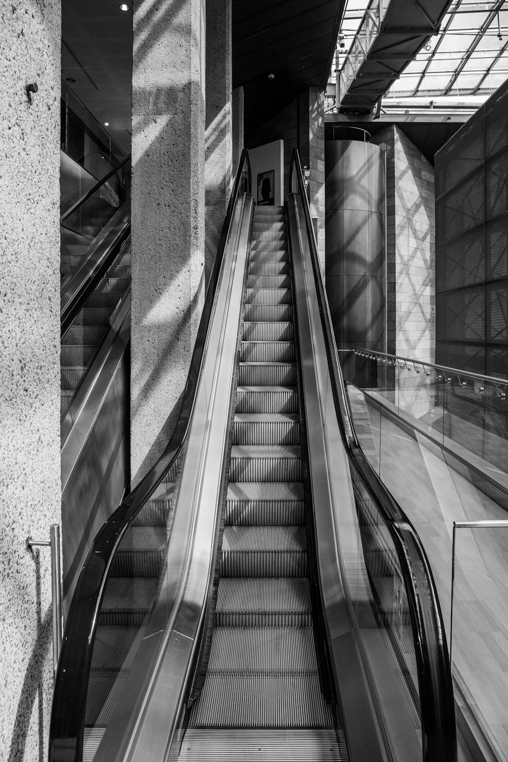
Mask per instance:
[[[231,194],[231,2],[232,0],[206,0],[206,282],[216,257]]]

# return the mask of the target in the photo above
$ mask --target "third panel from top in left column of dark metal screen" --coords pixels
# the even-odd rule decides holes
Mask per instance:
[[[436,248],[436,292],[485,280],[483,228]]]

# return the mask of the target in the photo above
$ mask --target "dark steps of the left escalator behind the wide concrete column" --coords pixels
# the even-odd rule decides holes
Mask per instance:
[[[60,349],[61,418],[64,418],[69,410],[75,393],[101,348],[110,330],[113,312],[129,286],[130,236],[62,338]]]

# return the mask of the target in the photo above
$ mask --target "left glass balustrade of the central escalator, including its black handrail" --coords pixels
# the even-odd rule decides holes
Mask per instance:
[[[171,576],[174,559],[169,564],[166,560],[168,543],[181,543],[183,547],[185,539],[178,532],[175,539],[172,531],[171,498],[178,479],[178,459],[186,446],[222,257],[238,198],[250,189],[251,168],[244,149],[171,440],[158,463],[104,524],[81,568],[56,674],[50,762],[94,759],[106,730],[107,743],[117,751],[123,747],[131,723],[136,721],[136,707],[161,647],[161,636],[169,627],[176,605],[172,595],[179,581]],[[187,518],[181,517],[180,527]],[[147,647],[140,652],[142,642]],[[127,680],[129,689],[123,691]],[[120,697],[123,703],[119,709]],[[109,762],[113,756],[105,754],[101,758]]]

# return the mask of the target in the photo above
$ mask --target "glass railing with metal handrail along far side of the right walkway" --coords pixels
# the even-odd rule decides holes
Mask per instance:
[[[508,381],[358,348],[353,358],[348,380],[508,487]]]

